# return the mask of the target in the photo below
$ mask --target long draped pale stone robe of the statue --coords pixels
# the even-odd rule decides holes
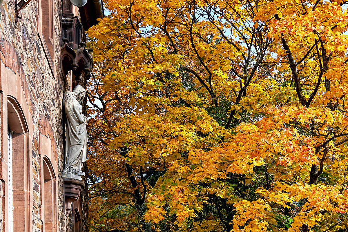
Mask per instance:
[[[67,119],[65,168],[80,171],[87,158],[87,129],[86,123],[82,122],[82,106],[72,93],[65,96],[64,106]]]

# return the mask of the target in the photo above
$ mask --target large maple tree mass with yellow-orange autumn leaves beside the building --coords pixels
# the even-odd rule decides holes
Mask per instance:
[[[106,1],[90,230],[348,230],[345,3]]]

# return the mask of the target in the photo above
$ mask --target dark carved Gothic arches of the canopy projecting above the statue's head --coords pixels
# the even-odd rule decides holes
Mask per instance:
[[[62,51],[62,70],[67,75],[72,70],[77,81],[82,80],[82,75],[89,79],[93,67],[93,49],[86,48],[85,42],[80,42],[80,47],[76,50],[69,46],[69,41],[63,39]]]

